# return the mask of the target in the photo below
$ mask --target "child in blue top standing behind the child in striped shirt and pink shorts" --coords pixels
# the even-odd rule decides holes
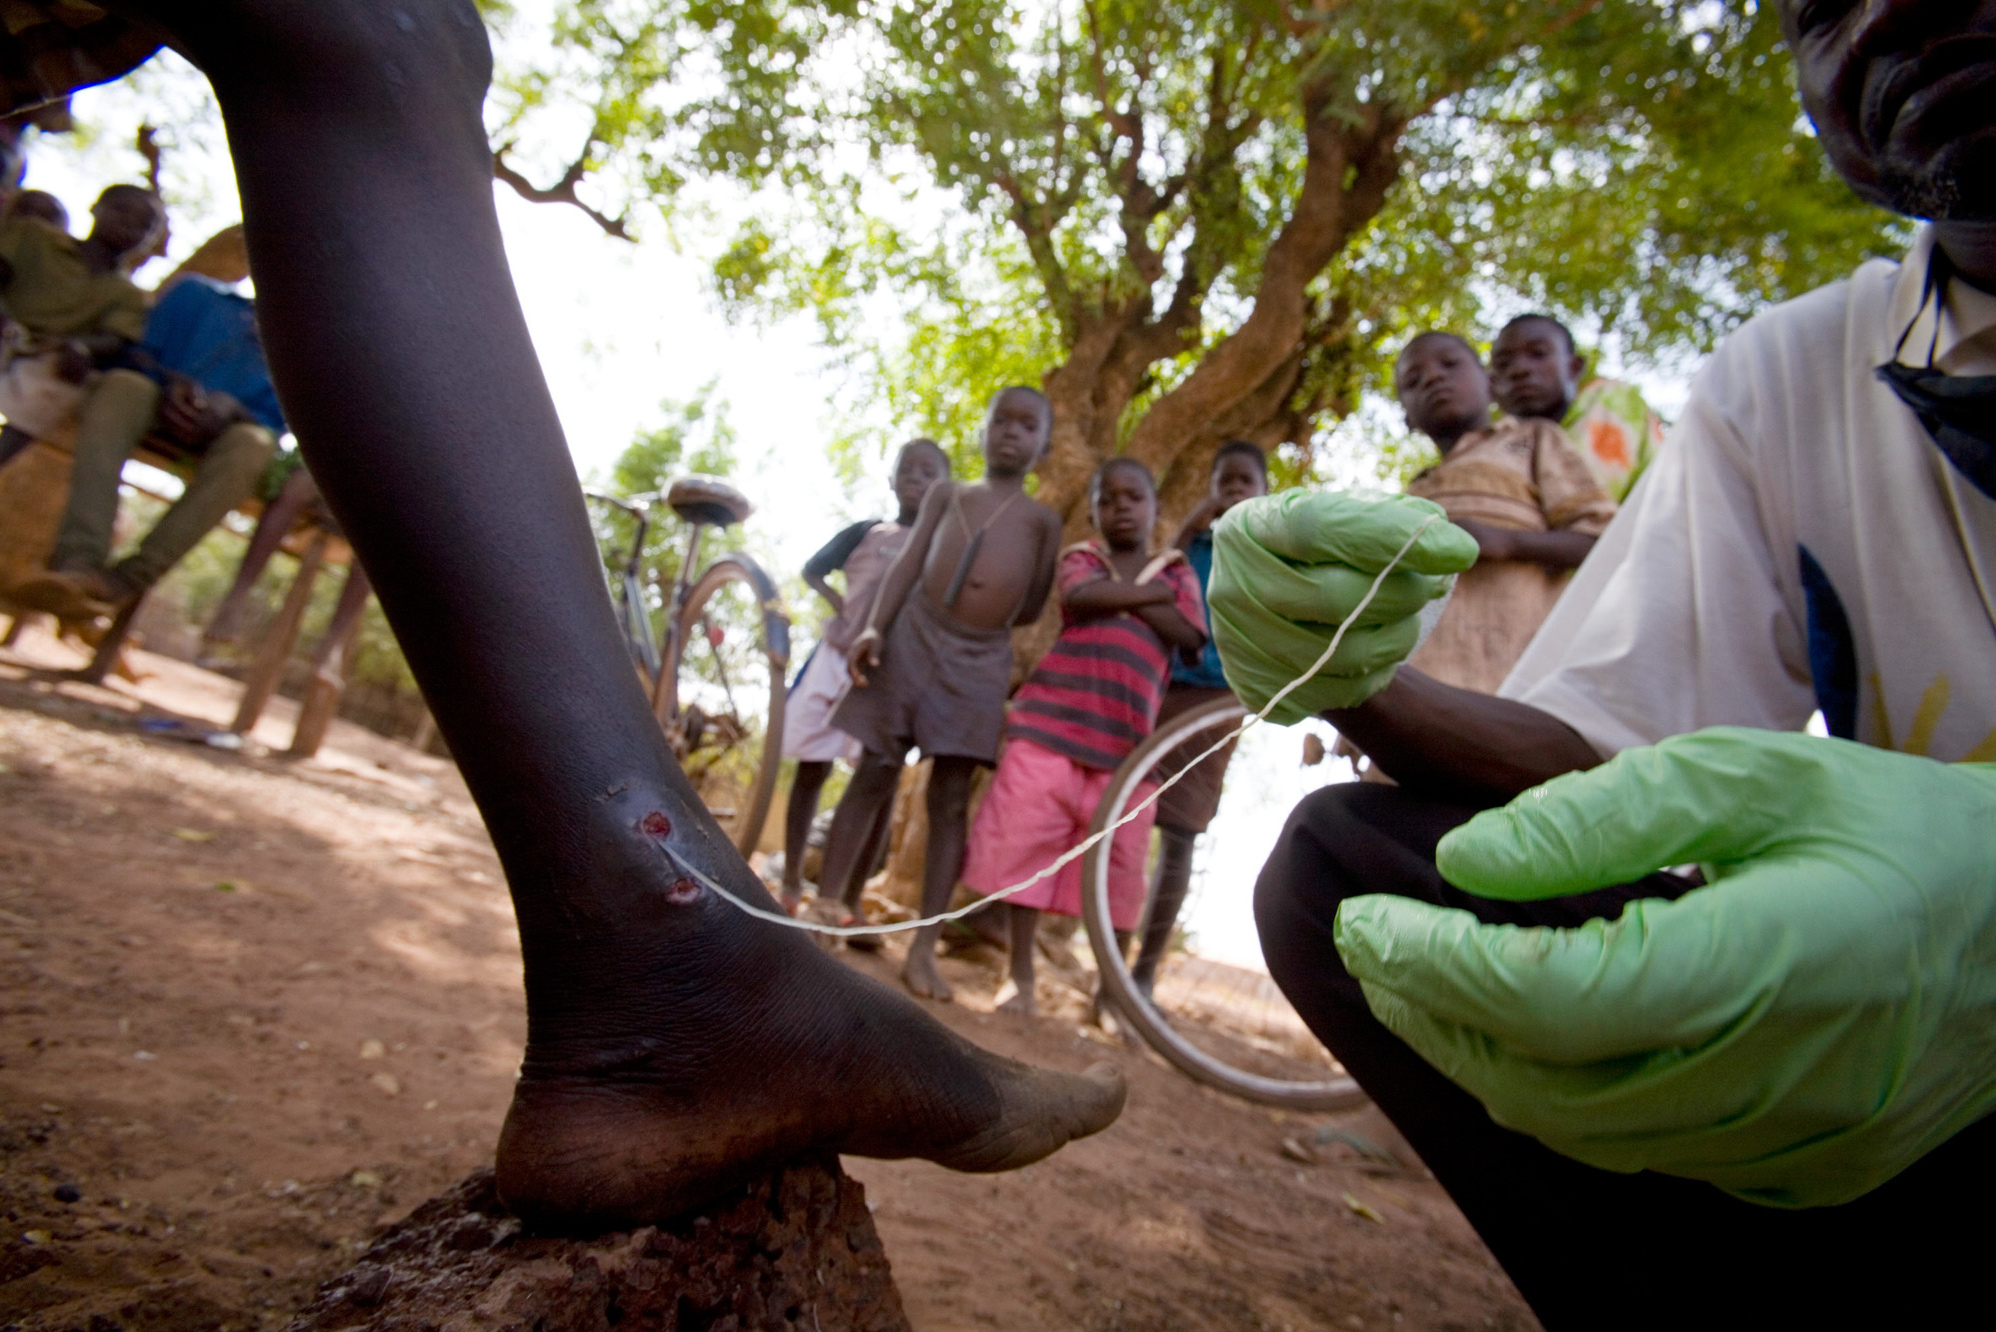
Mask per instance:
[[[1242,499],[1267,493],[1267,455],[1246,439],[1230,439],[1214,453],[1212,485],[1186,521],[1178,527],[1172,545],[1186,553],[1186,563],[1200,579],[1200,595],[1214,577],[1214,521],[1238,505]],[[1206,647],[1198,661],[1184,655],[1172,659],[1172,685],[1164,691],[1164,705],[1158,709],[1158,725],[1180,713],[1206,707],[1214,699],[1232,699],[1228,677],[1220,671],[1220,649],[1212,643],[1212,627],[1206,629]],[[1214,743],[1214,735],[1196,737],[1176,749],[1166,761],[1166,773],[1178,771],[1200,749]],[[1206,755],[1200,765],[1186,773],[1174,787],[1158,799],[1158,891],[1152,895],[1150,921],[1144,923],[1144,947],[1130,969],[1138,989],[1150,995],[1158,979],[1158,963],[1164,961],[1172,945],[1172,931],[1178,929],[1178,909],[1186,903],[1186,889],[1192,885],[1192,847],[1206,825],[1220,811],[1220,787],[1228,777],[1228,763],[1234,759],[1234,745]],[[1136,825],[1132,825],[1136,827]]]

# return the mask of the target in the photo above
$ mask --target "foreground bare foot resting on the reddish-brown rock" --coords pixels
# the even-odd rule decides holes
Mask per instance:
[[[766,901],[723,855],[717,877]],[[980,1050],[798,931],[661,887],[573,953],[523,931],[535,989],[497,1166],[539,1230],[669,1220],[824,1148],[1012,1170],[1122,1112],[1112,1064],[1052,1072]]]

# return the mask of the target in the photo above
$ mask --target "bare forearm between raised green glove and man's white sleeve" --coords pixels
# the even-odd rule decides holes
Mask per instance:
[[[1601,765],[1581,733],[1515,699],[1443,685],[1413,667],[1357,707],[1323,713],[1399,785],[1475,803]]]

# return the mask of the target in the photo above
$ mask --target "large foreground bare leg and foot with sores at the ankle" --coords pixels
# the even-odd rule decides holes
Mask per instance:
[[[471,2],[118,8],[214,80],[285,413],[505,863],[527,979],[507,1202],[629,1226],[812,1150],[1002,1170],[1114,1120],[1118,1074],[978,1050],[669,859],[770,903],[673,765],[603,589],[499,240]]]

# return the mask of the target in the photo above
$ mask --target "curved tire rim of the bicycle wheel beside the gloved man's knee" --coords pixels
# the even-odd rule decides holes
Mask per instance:
[[[1238,727],[1246,717],[1248,709],[1236,699],[1216,699],[1160,723],[1142,745],[1130,751],[1130,757],[1110,777],[1108,791],[1102,793],[1102,803],[1096,807],[1096,817],[1088,831],[1100,833],[1116,823],[1128,811],[1132,795],[1160,759],[1192,737],[1202,737],[1210,745],[1220,739],[1224,729]],[[1104,839],[1082,857],[1082,919],[1088,923],[1088,943],[1096,955],[1096,971],[1102,977],[1104,997],[1116,1008],[1116,1014],[1150,1048],[1194,1082],[1240,1096],[1242,1100],[1287,1110],[1349,1110],[1365,1104],[1365,1092],[1349,1076],[1317,1080],[1271,1078],[1236,1068],[1182,1036],[1164,1012],[1152,1000],[1144,999],[1144,993],[1130,977],[1130,961],[1116,943],[1116,929],[1110,921],[1108,869],[1110,839]],[[1150,915],[1150,901],[1144,903],[1144,915]],[[1140,925],[1136,937],[1142,937],[1142,933]]]

